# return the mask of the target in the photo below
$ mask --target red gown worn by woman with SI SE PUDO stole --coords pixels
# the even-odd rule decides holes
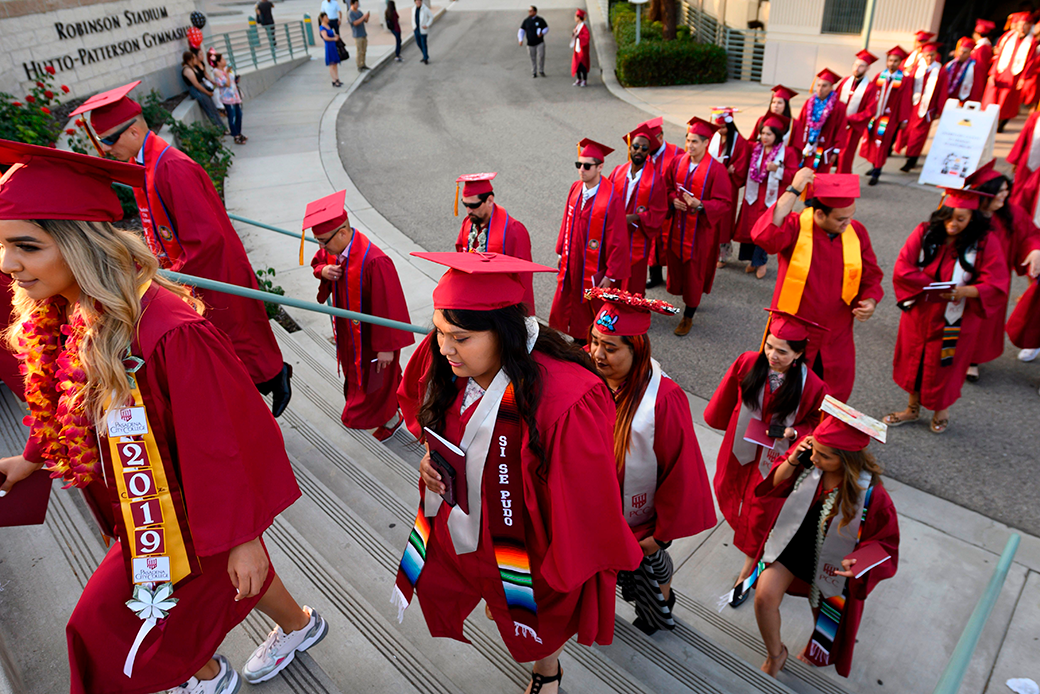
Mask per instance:
[[[482,495],[480,540],[476,550],[466,555],[456,554],[447,526],[450,508],[441,506],[431,523],[425,566],[416,584],[432,636],[469,643],[463,622],[484,599],[510,654],[521,663],[548,657],[575,634],[584,645],[610,643],[617,571],[633,570],[643,559],[621,514],[609,391],[577,364],[537,352],[535,359],[544,382],[552,384],[541,390],[535,415],[548,458],[547,480],[536,472],[539,460],[527,447],[521,418],[526,549],[542,643],[515,634],[494,557],[486,495]],[[459,414],[466,383],[457,381],[459,394],[445,417],[442,434],[451,441],[462,440],[476,410],[473,404]],[[413,403],[402,410],[415,412],[417,406]],[[414,420],[408,425],[415,431]],[[493,466],[486,465],[485,475],[493,473]],[[421,482],[419,488],[422,493]]]

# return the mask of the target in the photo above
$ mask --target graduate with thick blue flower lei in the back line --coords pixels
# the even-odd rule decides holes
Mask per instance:
[[[802,165],[826,174],[841,154],[846,133],[846,106],[834,85],[840,77],[824,68],[816,74],[812,96],[791,126],[791,143],[802,150]]]

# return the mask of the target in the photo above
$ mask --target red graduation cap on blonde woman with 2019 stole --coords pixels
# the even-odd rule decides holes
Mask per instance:
[[[119,182],[145,186],[137,164],[0,139],[0,220],[116,222],[123,205],[112,190]]]

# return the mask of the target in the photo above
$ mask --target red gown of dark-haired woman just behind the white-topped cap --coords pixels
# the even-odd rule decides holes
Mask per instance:
[[[758,352],[745,352],[737,357],[704,408],[705,423],[712,429],[726,430],[722,447],[719,448],[719,461],[716,463],[714,492],[719,499],[719,510],[733,529],[733,546],[749,557],[758,551],[758,539],[752,536],[748,521],[755,499],[755,488],[762,481],[762,473],[758,470],[759,460],[766,455],[766,451],[758,446],[755,460],[742,465],[733,455],[733,442],[737,436],[736,426],[743,402],[740,382],[751,372],[758,355]],[[788,374],[794,376],[795,371]],[[820,423],[820,406],[826,394],[827,385],[818,376],[808,371],[792,427],[798,432],[798,438],[811,434]],[[773,417],[773,393],[769,388],[762,391],[760,417],[763,421]],[[743,439],[744,432],[739,432],[739,436]]]

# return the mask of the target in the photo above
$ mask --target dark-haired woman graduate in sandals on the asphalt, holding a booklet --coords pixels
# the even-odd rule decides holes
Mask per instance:
[[[885,415],[899,427],[914,421],[920,408],[933,410],[931,430],[950,427],[950,406],[974,355],[985,319],[1007,306],[1008,263],[1000,240],[979,213],[978,190],[946,190],[942,205],[917,225],[892,271],[895,300],[903,310],[892,357],[892,379],[910,393],[902,412]],[[954,286],[930,291],[933,282]]]

